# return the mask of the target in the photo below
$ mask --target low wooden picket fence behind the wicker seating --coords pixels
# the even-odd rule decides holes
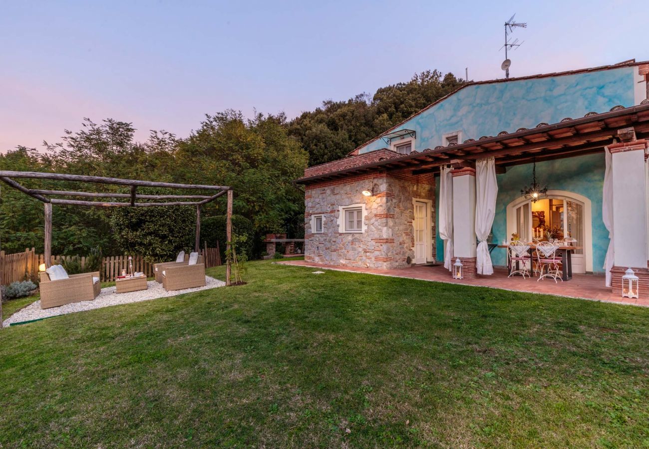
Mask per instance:
[[[205,260],[205,267],[216,267],[221,265],[221,255],[219,253],[218,244],[216,248],[204,247],[201,249],[201,254]],[[52,265],[61,263],[62,261],[69,261],[75,256],[52,256]],[[147,277],[153,277],[153,263],[144,260],[143,256],[134,255],[132,257],[133,271],[141,271]],[[86,258],[81,257],[81,266],[86,265]],[[0,251],[0,280],[3,285],[11,284],[15,281],[22,280],[38,280],[38,267],[41,263],[45,263],[45,256],[43,254],[36,254],[36,250],[26,249],[24,252],[16,252],[14,254],[5,254]],[[102,282],[114,281],[116,277],[121,274],[122,270],[129,270],[129,256],[109,256],[101,260],[101,275]]]

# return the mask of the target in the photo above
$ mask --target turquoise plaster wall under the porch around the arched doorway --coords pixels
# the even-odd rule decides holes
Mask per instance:
[[[608,231],[602,221],[602,187],[604,185],[604,154],[590,154],[577,158],[559,159],[536,164],[538,182],[548,189],[579,193],[591,200],[591,219],[593,221],[593,271],[602,272]],[[507,236],[507,205],[520,198],[520,189],[530,184],[532,164],[508,167],[507,173],[497,175],[498,197],[496,217],[493,222],[493,243],[502,243]],[[439,186],[439,178],[437,178]],[[439,187],[435,190],[436,209],[439,211]],[[435,214],[436,216],[439,213]],[[439,221],[437,221],[439,229]],[[443,243],[437,234],[437,260],[444,258]],[[496,248],[491,253],[494,265],[505,265],[505,250]]]

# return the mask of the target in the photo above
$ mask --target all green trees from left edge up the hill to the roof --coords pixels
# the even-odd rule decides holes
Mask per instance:
[[[84,119],[80,131],[66,130],[60,143],[45,143],[44,153],[19,147],[0,154],[0,169],[232,186],[234,212],[243,217],[240,221],[246,228],[241,231],[254,235],[246,252],[252,251],[254,256],[263,250],[262,239],[267,232],[288,232],[297,237],[304,232],[303,191],[293,181],[302,176],[307,164],[347,155],[462,82],[450,73],[442,76],[439,71],[425,71],[408,82],[380,88],[373,96],[363,93],[347,101],[325,101],[320,108],[292,121],[284,114],[257,114],[244,119],[240,112],[227,110],[206,115],[197,130],[184,139],[152,131],[146,141],[137,142],[130,123]],[[117,186],[30,180],[24,184],[127,193]],[[42,203],[4,185],[1,188],[2,249],[18,252],[33,246],[42,251]],[[225,197],[206,205],[203,211],[206,223],[210,223],[210,216],[222,216]],[[129,251],[168,258],[176,250],[191,246],[194,220],[193,211],[181,208],[156,212],[55,206],[53,254],[90,254],[91,249],[101,247],[106,255]],[[167,228],[169,237],[152,237],[156,226]],[[176,235],[183,230],[186,234]]]

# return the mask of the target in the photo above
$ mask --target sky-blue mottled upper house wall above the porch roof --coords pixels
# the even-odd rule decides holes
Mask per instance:
[[[447,132],[461,130],[462,140],[479,139],[608,112],[618,104],[633,106],[633,67],[468,86],[396,129],[414,129],[415,149],[422,151],[442,145]],[[360,152],[385,147],[377,139]]]

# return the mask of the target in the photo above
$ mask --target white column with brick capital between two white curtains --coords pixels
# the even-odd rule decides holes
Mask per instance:
[[[453,261],[462,262],[465,278],[476,277],[476,169],[459,167],[453,176]]]

